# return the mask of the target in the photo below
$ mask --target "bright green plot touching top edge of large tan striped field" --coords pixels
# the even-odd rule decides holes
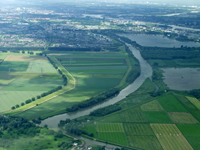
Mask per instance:
[[[173,123],[166,112],[144,112],[149,123]]]

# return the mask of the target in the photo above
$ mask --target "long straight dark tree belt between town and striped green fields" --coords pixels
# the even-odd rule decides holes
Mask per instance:
[[[71,47],[49,47],[50,51],[101,51],[101,48],[71,48]]]

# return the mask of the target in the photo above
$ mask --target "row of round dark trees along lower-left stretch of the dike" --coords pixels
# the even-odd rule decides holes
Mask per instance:
[[[41,97],[45,97],[45,96],[47,96],[47,95],[49,95],[49,94],[52,94],[52,93],[54,93],[54,92],[56,92],[56,91],[58,91],[58,90],[60,90],[60,89],[62,89],[62,86],[58,86],[58,87],[55,88],[55,89],[52,89],[52,90],[50,90],[50,91],[48,91],[48,92],[44,92],[44,93],[42,93],[41,95],[38,95],[38,96],[37,96],[37,99],[40,99]],[[33,101],[35,101],[35,100],[36,100],[35,97],[33,97],[32,99],[28,99],[28,100],[25,101],[25,103],[22,102],[22,103],[21,103],[21,106],[24,106],[25,104],[29,104],[29,103],[31,103],[31,102],[33,102]],[[12,106],[11,109],[15,109],[15,108],[19,108],[19,107],[20,107],[20,106],[17,104],[17,105],[15,105],[15,106]]]

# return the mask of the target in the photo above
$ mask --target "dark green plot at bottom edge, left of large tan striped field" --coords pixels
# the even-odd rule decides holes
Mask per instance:
[[[130,146],[149,150],[162,150],[158,139],[153,135],[148,136],[127,136]]]

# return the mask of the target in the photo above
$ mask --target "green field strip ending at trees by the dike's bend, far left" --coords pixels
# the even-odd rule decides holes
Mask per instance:
[[[62,84],[62,79],[16,79],[3,91],[49,91]]]

